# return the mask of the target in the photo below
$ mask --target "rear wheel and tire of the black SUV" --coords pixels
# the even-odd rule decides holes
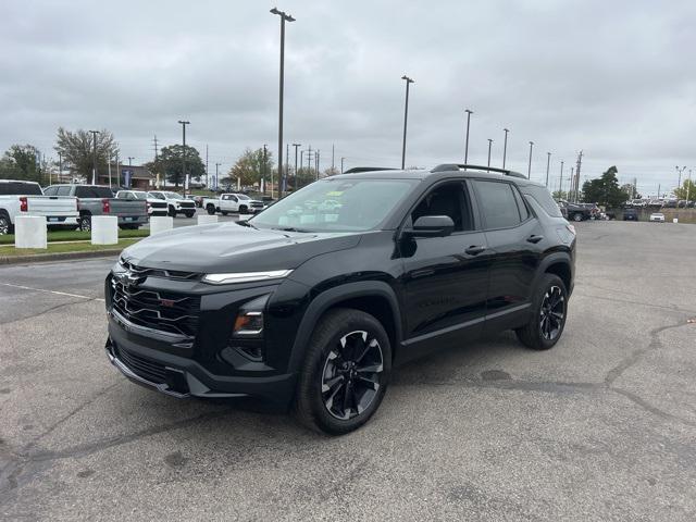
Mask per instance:
[[[518,339],[533,350],[552,348],[563,334],[568,316],[568,290],[556,274],[544,274],[530,322],[515,330]]]

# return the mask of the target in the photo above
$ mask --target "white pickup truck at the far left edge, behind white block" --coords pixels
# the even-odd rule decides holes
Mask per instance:
[[[0,179],[0,235],[14,233],[18,215],[41,215],[48,226],[77,227],[77,198],[44,196],[38,183]]]

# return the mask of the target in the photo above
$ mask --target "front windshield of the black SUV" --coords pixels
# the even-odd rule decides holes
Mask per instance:
[[[249,223],[299,232],[364,232],[376,227],[417,179],[324,179],[269,207]]]

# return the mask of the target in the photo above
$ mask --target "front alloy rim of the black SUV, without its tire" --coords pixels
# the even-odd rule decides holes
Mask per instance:
[[[384,358],[380,341],[365,331],[344,335],[326,356],[322,397],[328,413],[347,421],[365,411],[380,390]]]

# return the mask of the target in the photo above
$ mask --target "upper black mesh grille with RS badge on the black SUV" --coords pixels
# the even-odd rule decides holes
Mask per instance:
[[[127,281],[127,279],[126,279]],[[198,332],[200,297],[149,290],[111,279],[111,306],[138,326],[195,337]]]

